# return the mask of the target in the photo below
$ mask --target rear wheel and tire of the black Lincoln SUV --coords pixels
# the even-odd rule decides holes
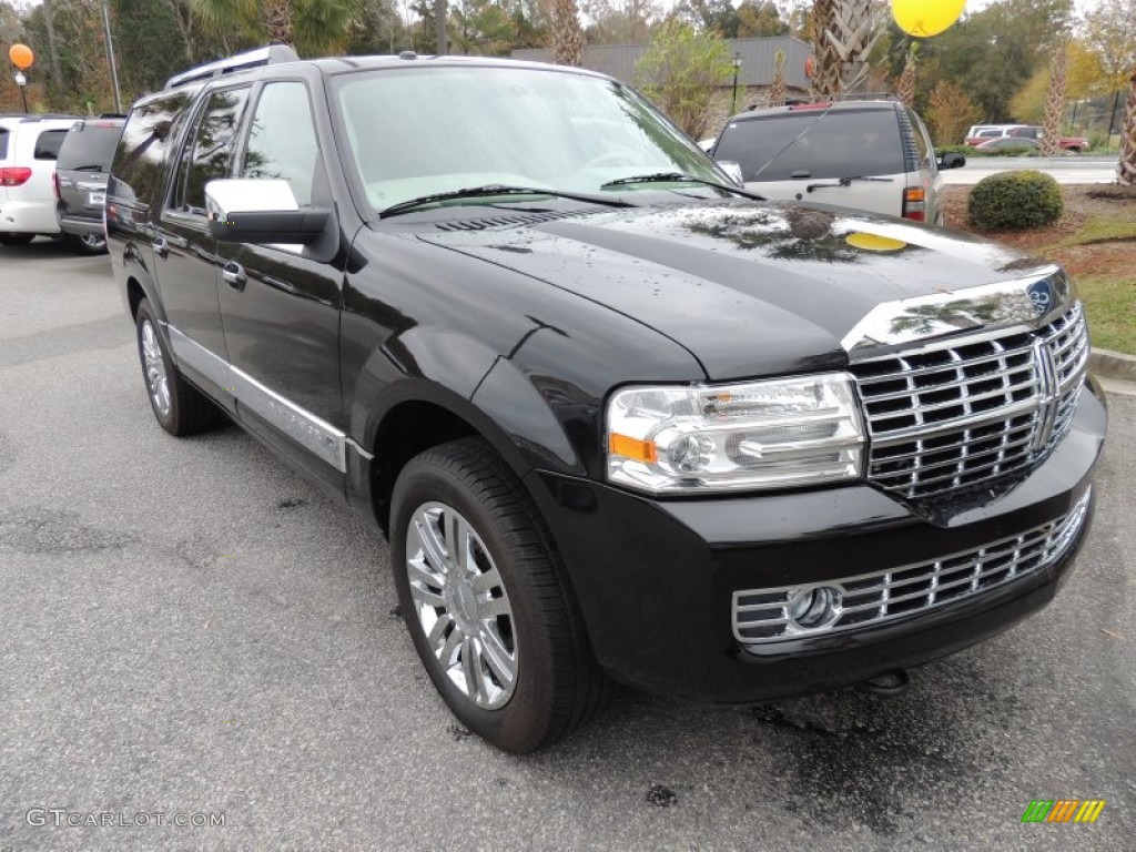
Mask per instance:
[[[177,371],[147,299],[139,302],[136,328],[142,378],[158,424],[183,437],[223,423],[220,409]]]

